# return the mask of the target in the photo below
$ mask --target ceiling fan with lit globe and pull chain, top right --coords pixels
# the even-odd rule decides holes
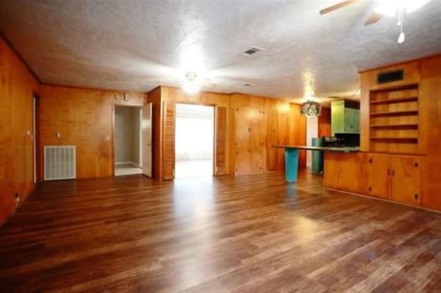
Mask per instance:
[[[334,10],[338,10],[340,8],[344,8],[345,6],[349,6],[353,3],[360,2],[362,0],[347,0],[337,3],[333,6],[329,6],[325,9],[320,10],[320,14],[327,14],[329,12],[333,12]],[[373,23],[378,22],[382,16],[386,15],[388,17],[394,17],[398,13],[398,26],[400,26],[400,36],[398,36],[398,43],[404,42],[404,32],[402,31],[402,25],[404,21],[404,13],[412,13],[424,6],[430,0],[382,0],[378,1],[376,8],[369,15],[367,20],[365,21],[365,25],[371,25]]]

